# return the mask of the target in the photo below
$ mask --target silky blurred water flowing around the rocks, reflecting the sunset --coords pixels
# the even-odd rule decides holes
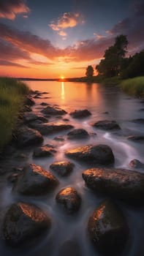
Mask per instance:
[[[86,140],[67,140],[67,132],[58,132],[56,135],[45,136],[44,145],[47,143],[55,145],[57,153],[55,157],[33,159],[32,150],[24,150],[27,154],[27,159],[23,159],[19,164],[24,165],[26,162],[33,162],[36,165],[44,167],[46,170],[52,162],[67,159],[64,156],[64,151],[68,148],[75,148],[88,144],[106,144],[113,150],[115,156],[115,167],[129,168],[129,162],[132,159],[143,160],[143,143],[134,143],[127,140],[129,135],[143,135],[144,125],[132,122],[132,119],[144,118],[144,112],[140,111],[143,108],[143,103],[140,99],[134,99],[121,92],[116,86],[102,86],[100,84],[86,83],[69,83],[69,82],[52,82],[52,81],[28,81],[28,85],[32,90],[45,91],[49,94],[42,94],[42,98],[36,99],[36,105],[33,107],[35,113],[39,113],[43,107],[42,102],[47,102],[50,105],[58,105],[67,111],[67,114],[62,118],[51,117],[50,122],[58,124],[72,124],[75,128],[86,129],[90,137]],[[48,99],[46,99],[48,97]],[[45,98],[45,99],[44,99]],[[83,119],[74,119],[69,116],[72,110],[88,109],[91,111],[91,116]],[[68,118],[69,121],[62,120]],[[99,120],[115,120],[121,127],[118,132],[105,132],[100,129],[94,129],[91,124]],[[96,134],[95,134],[96,133]],[[62,136],[64,141],[53,140],[56,136]],[[23,152],[23,150],[22,150]],[[16,160],[11,159],[12,165]],[[20,160],[19,160],[20,161]],[[70,160],[71,161],[71,160]],[[83,256],[98,256],[99,253],[94,250],[88,240],[87,223],[91,212],[102,202],[107,195],[94,195],[86,188],[81,173],[88,168],[88,165],[82,165],[75,161],[75,168],[72,174],[67,178],[57,178],[60,185],[50,195],[41,197],[22,197],[12,193],[12,187],[7,184],[6,180],[1,182],[1,203],[3,209],[10,206],[11,203],[23,200],[31,202],[42,208],[46,213],[50,214],[53,219],[53,225],[48,235],[44,236],[41,241],[33,242],[32,244],[20,249],[9,249],[1,242],[1,255],[29,255],[29,256],[58,256],[61,245],[66,241],[77,241],[80,246],[81,255]],[[18,162],[17,162],[18,163]],[[140,170],[143,172],[144,170]],[[56,173],[54,173],[56,175]],[[82,197],[80,211],[74,216],[67,216],[56,204],[56,194],[64,187],[72,186],[77,189]],[[142,198],[143,200],[143,198]],[[129,241],[121,255],[124,256],[143,256],[144,246],[144,209],[126,206],[124,203],[118,202],[119,206],[124,211],[127,222],[129,224]],[[74,256],[67,252],[66,255]],[[65,256],[65,255],[63,255]],[[77,256],[77,255],[76,255]],[[114,255],[112,255],[114,256]]]

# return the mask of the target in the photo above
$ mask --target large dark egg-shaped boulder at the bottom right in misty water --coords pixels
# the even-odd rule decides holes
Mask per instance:
[[[128,238],[128,227],[121,211],[110,200],[98,206],[88,220],[88,233],[105,255],[119,255]]]

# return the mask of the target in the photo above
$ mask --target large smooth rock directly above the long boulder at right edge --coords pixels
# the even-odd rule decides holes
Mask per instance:
[[[77,161],[88,162],[95,165],[113,164],[113,151],[106,145],[88,145],[74,149],[69,149],[65,152],[67,157],[76,159]]]

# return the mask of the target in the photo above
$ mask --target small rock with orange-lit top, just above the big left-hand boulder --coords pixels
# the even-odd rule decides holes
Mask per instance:
[[[34,149],[33,157],[53,157],[55,153],[55,149],[48,146],[42,146]]]

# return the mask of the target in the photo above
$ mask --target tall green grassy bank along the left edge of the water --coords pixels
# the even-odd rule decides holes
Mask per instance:
[[[0,78],[0,151],[12,138],[24,97],[28,93],[26,84],[12,78]]]

